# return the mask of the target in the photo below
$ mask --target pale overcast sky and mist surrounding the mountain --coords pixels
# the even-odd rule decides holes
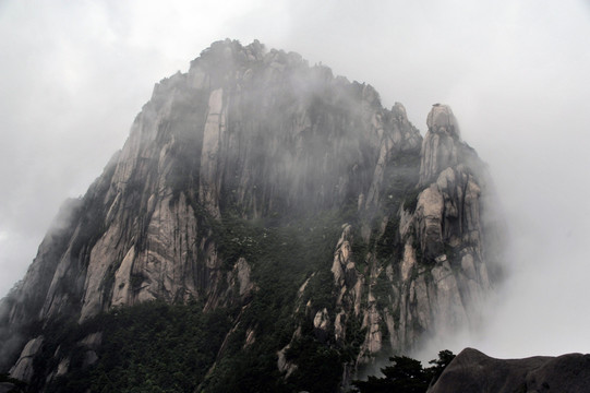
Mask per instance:
[[[123,145],[154,83],[214,40],[257,38],[372,84],[422,134],[431,105],[450,105],[489,163],[514,271],[484,334],[441,345],[590,353],[589,1],[219,3],[0,0],[0,296],[61,202]]]

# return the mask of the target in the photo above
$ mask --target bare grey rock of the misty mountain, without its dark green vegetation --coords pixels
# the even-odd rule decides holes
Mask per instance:
[[[228,217],[294,221],[329,211],[351,219],[326,245],[334,250],[326,272],[302,277],[293,318],[329,345],[358,334],[348,331],[354,323],[365,329],[346,378],[424,334],[471,324],[496,276],[495,226],[485,214],[493,198],[450,108],[434,106],[426,122],[422,140],[401,104],[386,109],[371,85],[297,53],[215,43],[188,73],[156,84],[122,150],[62,210],[0,302],[0,333],[12,337],[27,321],[58,315],[84,322],[153,299],[203,300],[205,312],[245,307],[258,290],[256,259],[225,260],[216,228]],[[327,269],[334,309],[309,294]],[[243,327],[244,348],[255,346],[256,326]],[[96,345],[84,344],[87,365]],[[278,368],[290,374],[285,350]],[[21,356],[20,374],[29,358]],[[58,360],[52,376],[69,367]]]

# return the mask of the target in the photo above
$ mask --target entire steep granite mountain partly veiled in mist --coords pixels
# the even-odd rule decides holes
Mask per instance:
[[[428,127],[297,53],[214,43],[156,84],[2,299],[0,371],[46,392],[336,392],[477,324],[493,193],[451,109]]]

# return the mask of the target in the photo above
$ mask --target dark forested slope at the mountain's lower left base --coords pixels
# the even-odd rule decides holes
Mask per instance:
[[[44,332],[45,356],[37,371],[53,369],[57,353],[69,357],[70,370],[53,379],[47,392],[193,392],[231,327],[227,310],[203,313],[202,307],[153,301],[115,309],[82,325],[51,326]],[[97,331],[103,343],[97,361],[88,366],[89,349],[80,342]]]

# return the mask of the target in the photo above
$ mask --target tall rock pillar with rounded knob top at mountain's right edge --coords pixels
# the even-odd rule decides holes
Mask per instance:
[[[406,250],[413,248],[419,255],[414,264],[410,251],[401,264],[404,278],[412,270],[417,274],[408,282],[409,302],[404,306],[409,314],[417,313],[410,320],[424,330],[444,332],[477,324],[478,306],[491,288],[487,270],[497,264],[492,258],[496,245],[484,239],[482,201],[492,192],[484,165],[460,141],[450,108],[435,105],[428,124],[419,181],[423,191],[401,229]]]

